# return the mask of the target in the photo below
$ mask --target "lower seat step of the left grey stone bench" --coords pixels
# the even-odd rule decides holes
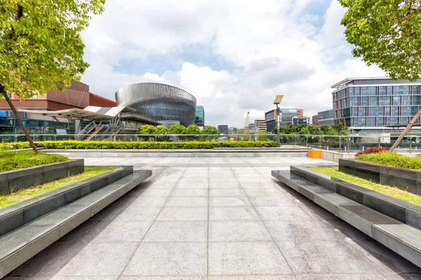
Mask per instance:
[[[134,171],[0,237],[0,279],[152,175]]]

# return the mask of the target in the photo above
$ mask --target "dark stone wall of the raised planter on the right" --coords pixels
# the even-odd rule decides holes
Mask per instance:
[[[421,195],[421,172],[415,170],[342,159],[339,160],[339,171]]]

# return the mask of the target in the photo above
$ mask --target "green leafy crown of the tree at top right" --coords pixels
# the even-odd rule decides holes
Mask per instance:
[[[354,57],[377,64],[391,78],[421,75],[421,2],[418,0],[340,0],[347,12],[341,24]]]

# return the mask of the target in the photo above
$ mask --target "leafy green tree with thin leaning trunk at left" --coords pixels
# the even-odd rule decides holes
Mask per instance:
[[[7,92],[21,99],[63,90],[89,66],[80,32],[105,0],[8,0],[0,3],[0,93],[30,146],[36,146]]]

